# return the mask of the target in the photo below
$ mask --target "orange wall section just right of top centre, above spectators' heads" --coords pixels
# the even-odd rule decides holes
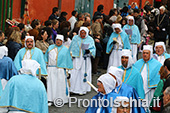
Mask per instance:
[[[102,4],[104,6],[104,14],[109,15],[109,11],[113,8],[114,0],[94,0],[93,13],[97,11],[97,6]]]

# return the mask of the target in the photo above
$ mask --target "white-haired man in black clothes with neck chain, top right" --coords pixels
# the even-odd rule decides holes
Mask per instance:
[[[159,8],[160,14],[155,17],[155,30],[154,38],[155,42],[163,41],[166,44],[167,27],[169,24],[169,17],[165,13],[165,7]]]

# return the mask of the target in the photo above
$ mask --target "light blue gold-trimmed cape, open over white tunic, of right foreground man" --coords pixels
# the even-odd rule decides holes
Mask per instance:
[[[134,64],[134,66],[140,72],[142,72],[145,63],[146,62],[143,59],[140,59]],[[160,81],[159,70],[160,70],[162,64],[154,58],[150,59],[146,64],[147,64],[147,81],[148,81],[147,85],[148,85],[148,88],[156,88],[157,84]]]

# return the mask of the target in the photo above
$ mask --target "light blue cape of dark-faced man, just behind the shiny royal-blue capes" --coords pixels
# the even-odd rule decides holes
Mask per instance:
[[[123,66],[119,66],[118,68],[125,70]],[[122,76],[122,80],[123,80],[123,76]],[[138,69],[136,69],[134,66],[131,66],[128,69],[126,69],[126,75],[123,82],[133,87],[137,91],[141,99],[145,98],[142,76],[138,71]]]

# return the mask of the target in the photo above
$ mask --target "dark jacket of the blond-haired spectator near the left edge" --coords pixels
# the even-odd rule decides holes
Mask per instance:
[[[14,61],[14,58],[17,52],[21,49],[22,45],[17,42],[8,41],[6,46],[8,48],[8,57]]]

